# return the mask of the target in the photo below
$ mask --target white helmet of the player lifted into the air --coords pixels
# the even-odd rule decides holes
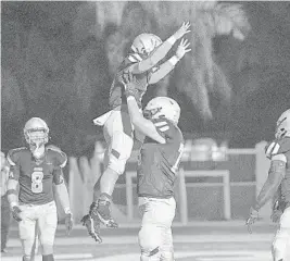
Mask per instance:
[[[134,41],[131,44],[131,50],[135,53],[149,55],[161,44],[162,44],[162,40],[156,35],[153,35],[153,34],[141,34],[141,35],[138,35],[134,39]]]

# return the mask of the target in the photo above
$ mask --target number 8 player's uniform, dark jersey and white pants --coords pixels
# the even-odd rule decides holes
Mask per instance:
[[[10,179],[18,182],[18,202],[22,221],[18,222],[20,238],[25,254],[29,256],[37,235],[42,246],[53,246],[58,225],[53,183],[63,183],[62,167],[67,158],[61,150],[46,148],[42,160],[35,160],[29,148],[10,150]]]

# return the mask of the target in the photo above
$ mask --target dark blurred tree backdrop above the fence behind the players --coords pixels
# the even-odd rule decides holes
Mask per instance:
[[[184,21],[192,24],[192,51],[150,88],[144,103],[155,95],[176,99],[187,138],[213,137],[236,148],[272,139],[277,117],[290,108],[290,4],[219,7],[2,1],[2,150],[21,146],[25,122],[40,116],[51,142],[68,156],[88,154],[102,139],[91,120],[109,109],[113,74],[133,39],[143,32],[166,39]]]

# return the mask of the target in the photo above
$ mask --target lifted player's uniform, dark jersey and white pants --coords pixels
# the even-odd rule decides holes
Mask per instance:
[[[103,134],[108,145],[104,153],[104,165],[119,175],[125,171],[126,162],[131,154],[134,146],[134,126],[128,114],[126,96],[121,78],[124,71],[139,61],[141,61],[141,58],[136,53],[125,58],[110,89],[109,104],[111,110],[94,120],[97,125],[104,125]],[[152,70],[135,74],[138,80],[138,86],[136,86],[138,97],[136,97],[136,100],[140,109],[142,108],[142,96],[147,90]]]

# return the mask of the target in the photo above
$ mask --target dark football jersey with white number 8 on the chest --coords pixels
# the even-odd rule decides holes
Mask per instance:
[[[10,179],[20,184],[18,200],[25,204],[45,204],[54,200],[52,185],[63,183],[62,167],[66,154],[54,147],[47,147],[41,161],[33,157],[26,147],[10,150]]]

